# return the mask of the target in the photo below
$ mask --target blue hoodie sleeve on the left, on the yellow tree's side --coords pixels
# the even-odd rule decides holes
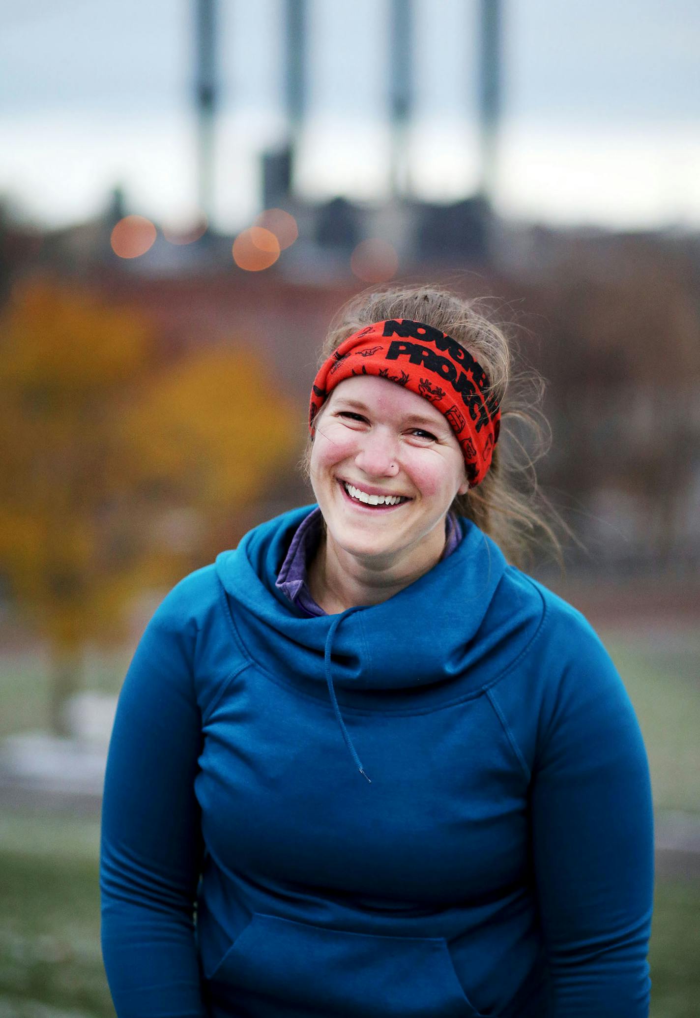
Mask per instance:
[[[173,617],[172,601],[138,644],[107,761],[102,950],[118,1018],[206,1015],[193,921],[201,859],[195,633]]]

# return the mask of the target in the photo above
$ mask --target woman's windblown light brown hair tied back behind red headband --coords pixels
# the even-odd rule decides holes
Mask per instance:
[[[570,531],[539,491],[534,471],[535,461],[549,445],[549,429],[539,405],[544,383],[531,370],[514,374],[513,339],[497,323],[489,302],[436,286],[365,290],[333,319],[319,364],[353,332],[387,319],[422,322],[452,336],[483,367],[490,391],[501,403],[501,435],[490,468],[480,485],[455,499],[454,511],[492,538],[514,565],[529,564],[533,548],[542,539],[561,563],[561,544],[552,523]]]

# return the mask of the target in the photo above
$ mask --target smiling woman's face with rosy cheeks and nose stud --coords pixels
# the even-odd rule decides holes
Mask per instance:
[[[324,404],[310,477],[329,541],[383,567],[400,561],[410,567],[412,556],[424,562],[431,551],[438,561],[446,513],[469,487],[443,414],[416,393],[370,375],[341,382]],[[374,504],[376,496],[400,501]]]

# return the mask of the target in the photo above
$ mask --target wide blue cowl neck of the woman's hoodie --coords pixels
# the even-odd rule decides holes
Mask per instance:
[[[464,675],[483,664],[484,656],[497,651],[506,635],[511,636],[513,655],[513,630],[520,628],[522,639],[528,638],[535,616],[541,615],[541,599],[534,595],[533,605],[531,588],[524,599],[527,604],[525,591],[517,597],[512,590],[516,600],[511,599],[511,617],[502,618],[499,591],[503,595],[504,580],[509,573],[522,574],[507,565],[488,536],[462,518],[464,536],[454,554],[388,601],[349,609],[340,621],[337,615],[303,618],[275,581],[297,526],[312,508],[294,509],[262,523],[235,551],[217,558],[217,573],[244,649],[286,679],[326,684],[324,658],[334,621],[335,686],[408,690]],[[483,668],[477,668],[476,684],[485,678]]]

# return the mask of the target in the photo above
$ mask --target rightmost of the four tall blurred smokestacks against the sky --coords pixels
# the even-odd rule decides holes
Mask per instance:
[[[492,201],[498,169],[498,132],[501,116],[501,0],[479,3],[479,193]]]

